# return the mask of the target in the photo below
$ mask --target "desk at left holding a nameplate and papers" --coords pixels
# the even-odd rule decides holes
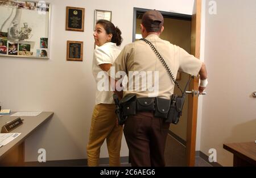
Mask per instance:
[[[21,134],[10,143],[6,144],[6,146],[0,148],[0,165],[24,165],[24,140],[44,122],[52,118],[52,115],[52,112],[42,112],[36,117],[20,117],[21,119],[24,119],[23,124],[12,130],[10,133]],[[16,118],[18,117],[10,117],[10,115],[0,117],[1,129],[7,121],[13,121]]]

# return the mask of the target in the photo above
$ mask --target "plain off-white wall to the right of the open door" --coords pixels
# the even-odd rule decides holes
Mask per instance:
[[[217,14],[205,11],[204,61],[208,95],[203,98],[200,150],[217,150],[217,162],[233,165],[224,143],[256,139],[256,1],[216,0]]]

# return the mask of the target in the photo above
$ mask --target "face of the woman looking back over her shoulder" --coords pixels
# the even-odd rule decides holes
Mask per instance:
[[[107,34],[102,24],[98,23],[95,26],[93,37],[95,40],[95,44],[100,47],[106,42],[111,42],[112,34]]]

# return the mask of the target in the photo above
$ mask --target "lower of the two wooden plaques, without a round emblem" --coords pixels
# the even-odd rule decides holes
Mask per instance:
[[[82,61],[83,42],[67,41],[67,60]]]

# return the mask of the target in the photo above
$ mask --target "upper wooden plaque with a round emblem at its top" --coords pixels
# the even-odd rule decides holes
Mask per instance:
[[[66,7],[66,30],[84,31],[84,8]]]

